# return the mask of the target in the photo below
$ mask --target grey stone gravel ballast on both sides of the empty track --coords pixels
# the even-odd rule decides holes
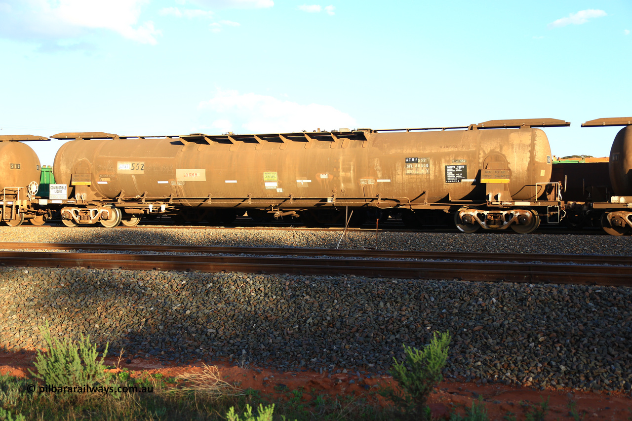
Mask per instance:
[[[71,231],[71,232],[70,232]],[[335,247],[339,231],[0,229],[4,241]],[[392,235],[392,238],[391,238]],[[345,247],[370,247],[351,233]],[[381,233],[384,248],[631,254],[630,238]],[[538,249],[538,243],[541,247]],[[342,247],[341,245],[341,247]],[[388,245],[388,247],[387,247]],[[424,245],[420,247],[419,245]],[[33,262],[36,264],[36,262]],[[165,364],[236,363],[386,374],[402,344],[453,336],[447,376],[629,391],[632,288],[235,272],[0,268],[1,345],[40,347],[37,326]]]

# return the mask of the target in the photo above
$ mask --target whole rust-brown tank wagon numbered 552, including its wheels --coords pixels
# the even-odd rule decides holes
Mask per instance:
[[[558,222],[560,205],[559,184],[549,183],[549,142],[537,127],[568,125],[538,119],[261,135],[59,133],[53,138],[73,140],[59,149],[54,176],[74,202],[61,209],[69,226],[116,226],[121,218],[134,225],[156,212],[319,219],[348,207],[454,212],[461,231],[531,232],[538,212]]]

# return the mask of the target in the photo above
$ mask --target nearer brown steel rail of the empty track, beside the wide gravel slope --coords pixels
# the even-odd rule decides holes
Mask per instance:
[[[11,266],[82,266],[140,271],[234,271],[354,275],[369,278],[632,286],[629,266],[606,265],[73,252],[0,252],[0,263]]]

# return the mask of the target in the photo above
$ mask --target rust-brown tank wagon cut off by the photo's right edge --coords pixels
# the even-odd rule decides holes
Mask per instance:
[[[624,126],[614,137],[609,157],[609,174],[614,195],[606,202],[584,204],[586,211],[601,212],[600,222],[611,235],[632,233],[632,117],[599,118],[582,127]]]

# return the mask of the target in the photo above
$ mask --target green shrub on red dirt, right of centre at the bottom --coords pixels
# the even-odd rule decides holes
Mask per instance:
[[[441,370],[446,366],[450,339],[449,332],[438,337],[435,333],[423,350],[404,345],[406,361],[402,363],[393,358],[395,363],[391,369],[401,391],[388,387],[382,391],[382,396],[402,406],[409,415],[430,419],[430,408],[426,403],[432,389],[443,379]]]

